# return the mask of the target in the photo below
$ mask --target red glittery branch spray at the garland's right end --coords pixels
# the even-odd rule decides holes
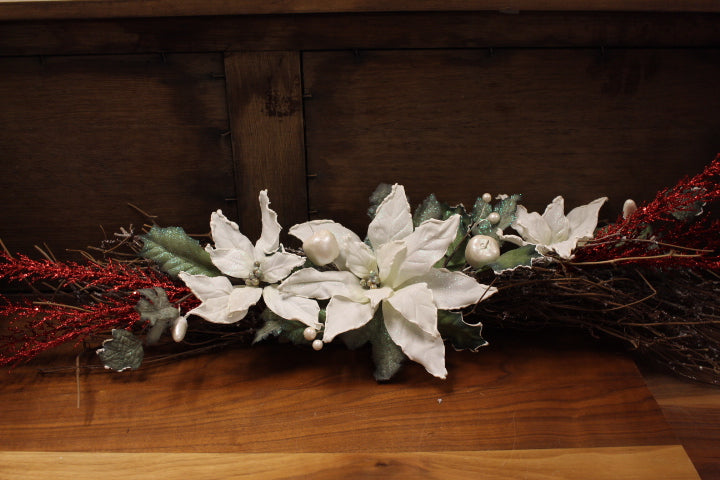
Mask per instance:
[[[720,270],[720,221],[708,209],[720,199],[720,155],[700,174],[661,190],[577,250],[575,262],[642,263]]]

